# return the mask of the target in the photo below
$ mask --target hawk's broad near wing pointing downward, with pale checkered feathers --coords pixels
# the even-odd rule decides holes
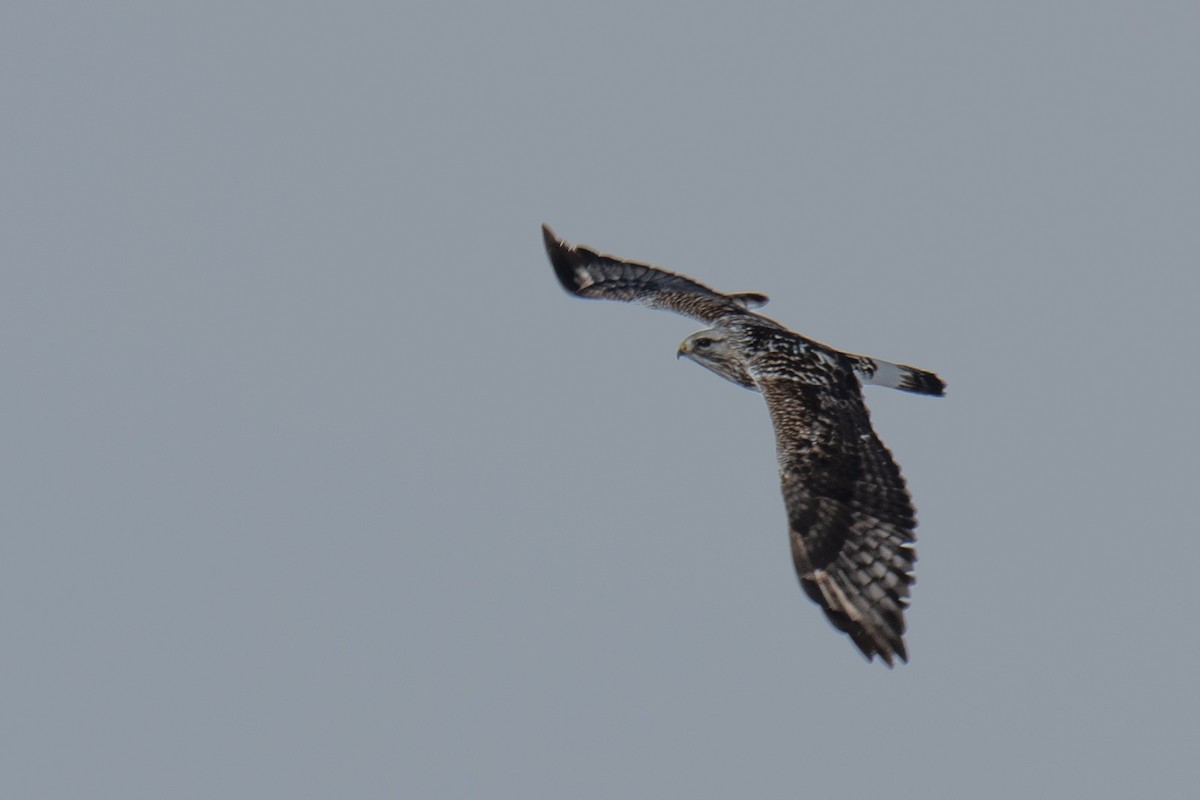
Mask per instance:
[[[751,367],[775,426],[792,559],[804,593],[868,660],[908,660],[917,519],[858,381],[816,353]]]

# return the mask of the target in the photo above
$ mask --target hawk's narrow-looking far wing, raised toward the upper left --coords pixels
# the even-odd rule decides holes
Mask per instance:
[[[624,261],[587,247],[568,245],[547,225],[541,227],[541,233],[554,275],[563,288],[576,296],[666,308],[706,323],[721,317],[744,315],[778,326],[774,320],[750,312],[766,305],[767,295],[749,291],[721,294],[689,277],[649,264]]]

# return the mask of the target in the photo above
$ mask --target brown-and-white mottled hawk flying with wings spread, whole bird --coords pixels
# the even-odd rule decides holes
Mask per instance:
[[[907,662],[904,610],[914,581],[917,519],[900,468],[871,427],[862,387],[942,396],[942,379],[790,331],[754,312],[766,295],[722,294],[649,264],[571,246],[546,225],[542,235],[568,293],[665,308],[710,326],[685,338],[676,355],[766,398],[800,587],[868,661]]]

